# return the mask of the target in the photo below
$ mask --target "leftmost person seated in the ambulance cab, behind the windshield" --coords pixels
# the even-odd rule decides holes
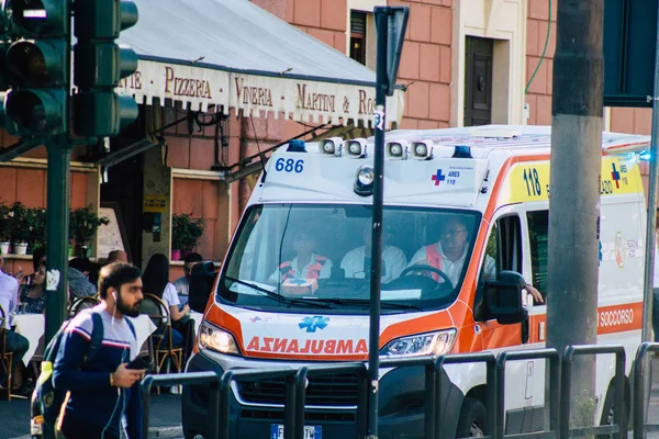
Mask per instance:
[[[306,229],[293,234],[295,257],[282,262],[268,278],[271,282],[284,282],[287,279],[326,279],[332,273],[332,261],[314,254],[315,238]]]

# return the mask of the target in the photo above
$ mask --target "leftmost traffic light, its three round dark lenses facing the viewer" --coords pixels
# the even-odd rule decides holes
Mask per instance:
[[[3,78],[11,134],[52,136],[68,128],[69,0],[5,0]]]

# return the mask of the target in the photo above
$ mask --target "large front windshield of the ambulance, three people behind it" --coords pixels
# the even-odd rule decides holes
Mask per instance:
[[[386,206],[382,313],[437,309],[462,284],[480,214]],[[252,206],[230,251],[219,300],[293,312],[310,307],[368,314],[371,207]]]

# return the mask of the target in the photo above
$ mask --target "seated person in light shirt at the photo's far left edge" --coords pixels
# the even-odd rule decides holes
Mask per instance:
[[[12,393],[27,395],[32,392],[32,386],[23,382],[23,356],[30,349],[30,341],[22,335],[11,330],[11,318],[16,312],[19,303],[19,281],[4,273],[4,256],[0,254],[0,306],[4,311],[4,339],[7,346],[4,350],[13,352],[12,356]],[[0,337],[0,344],[2,337]],[[1,348],[1,347],[0,347]],[[0,386],[7,385],[8,371],[0,365]]]

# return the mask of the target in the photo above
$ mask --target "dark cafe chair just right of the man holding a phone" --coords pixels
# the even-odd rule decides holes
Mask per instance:
[[[174,346],[171,339],[171,319],[169,318],[169,307],[167,304],[154,294],[144,294],[142,305],[139,306],[139,314],[148,315],[157,327],[156,331],[149,336],[156,373],[160,373],[168,360],[180,372],[182,369],[183,348]],[[160,387],[157,387],[157,392],[160,393]]]

